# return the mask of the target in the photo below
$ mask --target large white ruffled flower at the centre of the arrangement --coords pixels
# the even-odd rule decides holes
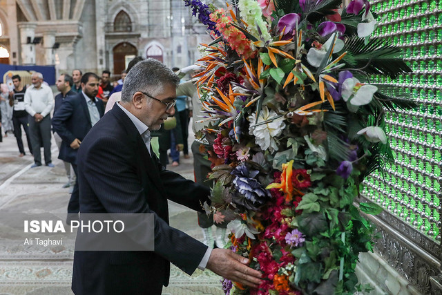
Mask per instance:
[[[278,145],[276,144],[274,137],[282,133],[282,130],[285,128],[285,119],[284,117],[279,117],[278,119],[265,124],[260,123],[273,119],[274,117],[277,117],[277,114],[274,111],[269,110],[267,106],[262,108],[256,125],[256,113],[249,116],[249,134],[255,136],[255,142],[260,146],[262,151],[269,149],[271,153],[278,150]]]

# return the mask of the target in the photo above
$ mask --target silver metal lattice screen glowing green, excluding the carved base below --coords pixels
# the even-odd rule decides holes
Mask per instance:
[[[365,180],[367,198],[411,227],[440,242],[442,222],[442,1],[372,2],[381,22],[375,32],[403,48],[412,73],[396,80],[373,77],[374,84],[405,88],[419,106],[387,113],[394,164],[385,178]]]

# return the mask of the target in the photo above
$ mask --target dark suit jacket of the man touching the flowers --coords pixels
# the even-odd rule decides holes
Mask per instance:
[[[154,213],[155,251],[75,251],[75,294],[159,294],[169,261],[195,271],[207,246],[169,226],[167,199],[202,211],[209,189],[164,169],[119,106],[86,135],[77,164],[80,212]]]

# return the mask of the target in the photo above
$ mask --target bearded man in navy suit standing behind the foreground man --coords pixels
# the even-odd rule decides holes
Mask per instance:
[[[52,128],[61,137],[58,158],[72,164],[77,173],[77,151],[92,126],[104,115],[104,105],[95,96],[98,93],[98,76],[85,73],[81,77],[81,93],[66,97],[52,117]],[[68,223],[79,212],[78,177],[68,204]],[[72,214],[72,215],[70,215]]]

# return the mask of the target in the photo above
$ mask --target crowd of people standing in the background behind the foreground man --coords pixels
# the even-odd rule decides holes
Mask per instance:
[[[63,160],[66,170],[67,181],[63,187],[68,188],[70,194],[66,222],[76,219],[79,212],[77,149],[104,113],[111,111],[115,102],[119,102],[127,73],[143,59],[135,57],[122,72],[121,79],[114,81],[111,81],[111,72],[108,70],[104,70],[99,77],[95,73],[82,73],[76,68],[70,75],[59,75],[55,85],[57,92],[37,72],[32,73],[30,85],[24,85],[19,75],[12,77],[13,88],[1,84],[0,119],[3,131],[0,132],[0,142],[3,136],[13,134],[17,140],[18,157],[30,153],[34,158],[31,168],[43,164],[52,168],[51,138],[54,136],[59,149],[57,158]],[[151,146],[163,166],[179,166],[181,157],[189,159],[189,128],[194,133],[203,128],[202,124],[195,124],[202,113],[198,93],[191,79],[191,75],[198,73],[198,68],[189,66],[172,70],[181,79],[176,89],[175,113],[162,124],[159,131],[151,132]],[[192,126],[189,125],[191,122]],[[26,135],[28,151],[23,144],[23,134]],[[210,162],[204,158],[204,149],[200,149],[205,144],[195,140],[191,145],[195,182],[211,187],[213,183],[207,179],[211,171]],[[44,149],[43,160],[41,148]],[[224,247],[225,224],[215,223],[213,234],[213,216],[198,212],[198,225],[202,228],[206,245]]]

